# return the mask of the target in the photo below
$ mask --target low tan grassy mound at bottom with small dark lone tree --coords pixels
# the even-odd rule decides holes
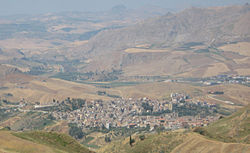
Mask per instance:
[[[170,132],[160,134],[146,134],[144,140],[133,136],[135,143],[131,147],[129,138],[111,143],[98,152],[100,153],[238,153],[248,152],[250,145],[237,143],[223,143],[209,140],[196,133]]]

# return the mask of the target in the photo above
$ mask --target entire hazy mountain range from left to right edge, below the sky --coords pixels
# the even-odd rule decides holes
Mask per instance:
[[[0,24],[0,64],[33,75],[94,73],[92,80],[250,75],[249,5],[159,16],[166,11],[121,5],[10,18]]]

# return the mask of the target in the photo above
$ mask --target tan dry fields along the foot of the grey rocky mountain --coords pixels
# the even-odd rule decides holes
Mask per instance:
[[[220,47],[225,52],[204,48],[178,49],[129,48],[124,59],[124,75],[171,75],[181,77],[210,77],[225,73],[249,75],[248,59],[250,43],[243,43],[239,48]],[[230,48],[230,47],[229,47]],[[228,50],[226,50],[228,49]],[[130,55],[130,54],[133,54]]]

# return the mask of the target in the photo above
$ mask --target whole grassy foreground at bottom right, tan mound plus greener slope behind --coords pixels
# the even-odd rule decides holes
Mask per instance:
[[[208,127],[194,131],[173,131],[154,134],[134,134],[130,138],[111,142],[98,152],[167,152],[167,153],[238,153],[250,150],[249,105],[233,115],[220,119]],[[199,133],[199,134],[198,134]],[[141,136],[144,139],[140,139]]]

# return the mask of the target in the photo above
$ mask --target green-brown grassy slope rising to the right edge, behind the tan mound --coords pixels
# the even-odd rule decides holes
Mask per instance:
[[[230,117],[220,119],[208,127],[198,128],[195,131],[223,142],[250,144],[250,105]]]

